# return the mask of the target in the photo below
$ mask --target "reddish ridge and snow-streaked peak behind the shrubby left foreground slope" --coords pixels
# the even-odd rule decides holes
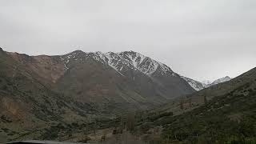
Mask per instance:
[[[83,104],[125,102],[137,109],[194,92],[170,67],[134,51],[103,54],[75,50],[53,56],[0,52],[8,59],[0,58],[6,74],[2,77],[22,75]]]

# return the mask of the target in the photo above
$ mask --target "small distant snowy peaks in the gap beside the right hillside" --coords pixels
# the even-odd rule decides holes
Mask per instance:
[[[230,78],[229,76],[226,76],[224,78],[219,78],[217,80],[215,80],[214,82],[210,82],[210,81],[203,81],[203,82],[198,82],[194,79],[191,79],[191,78],[186,78],[186,77],[183,77],[182,78],[188,82],[190,84],[191,87],[194,88],[194,90],[202,90],[202,89],[205,89],[207,87],[210,87],[210,86],[214,86],[214,85],[217,85],[219,83],[222,83],[222,82],[227,82],[227,81],[230,81],[232,78]]]

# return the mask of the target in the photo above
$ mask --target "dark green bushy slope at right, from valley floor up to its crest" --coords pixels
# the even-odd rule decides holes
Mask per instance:
[[[174,102],[169,110],[154,111],[154,116],[138,122],[138,132],[154,138],[149,130],[163,128],[161,139],[156,140],[160,143],[256,142],[256,68],[187,99],[191,105]]]

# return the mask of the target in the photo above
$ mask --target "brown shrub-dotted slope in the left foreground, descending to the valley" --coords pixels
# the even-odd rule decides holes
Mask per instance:
[[[31,61],[26,54],[21,57],[25,63]],[[0,51],[0,142],[30,134],[52,122],[86,118],[89,109],[82,111],[69,98],[50,90],[24,62]]]

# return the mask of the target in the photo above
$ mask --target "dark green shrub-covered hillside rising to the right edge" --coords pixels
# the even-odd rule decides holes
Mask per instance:
[[[256,142],[256,68],[203,90],[204,106],[166,121],[164,138],[190,142]]]

